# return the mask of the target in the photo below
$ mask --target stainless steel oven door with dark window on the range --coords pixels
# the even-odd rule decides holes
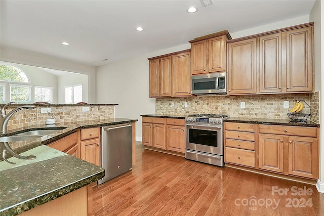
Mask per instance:
[[[186,149],[223,155],[223,125],[186,124]]]

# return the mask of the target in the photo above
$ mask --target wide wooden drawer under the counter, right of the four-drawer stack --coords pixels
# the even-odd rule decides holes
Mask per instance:
[[[286,126],[286,125],[259,125],[259,133],[262,134],[281,134],[302,137],[317,137],[316,127]]]

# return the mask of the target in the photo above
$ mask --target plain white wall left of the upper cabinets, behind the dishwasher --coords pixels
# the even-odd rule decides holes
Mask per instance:
[[[190,49],[190,44],[97,67],[97,103],[117,103],[116,117],[138,119],[136,140],[142,140],[141,114],[155,113],[149,98],[147,58]]]

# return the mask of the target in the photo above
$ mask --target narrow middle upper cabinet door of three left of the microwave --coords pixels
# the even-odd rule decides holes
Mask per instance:
[[[171,56],[160,59],[160,97],[172,96]]]

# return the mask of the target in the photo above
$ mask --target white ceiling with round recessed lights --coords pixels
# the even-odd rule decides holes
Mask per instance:
[[[309,15],[314,2],[214,0],[203,7],[199,0],[1,0],[0,46],[100,66],[225,29],[231,33]],[[189,6],[198,11],[187,13]],[[136,31],[138,26],[144,31]]]

